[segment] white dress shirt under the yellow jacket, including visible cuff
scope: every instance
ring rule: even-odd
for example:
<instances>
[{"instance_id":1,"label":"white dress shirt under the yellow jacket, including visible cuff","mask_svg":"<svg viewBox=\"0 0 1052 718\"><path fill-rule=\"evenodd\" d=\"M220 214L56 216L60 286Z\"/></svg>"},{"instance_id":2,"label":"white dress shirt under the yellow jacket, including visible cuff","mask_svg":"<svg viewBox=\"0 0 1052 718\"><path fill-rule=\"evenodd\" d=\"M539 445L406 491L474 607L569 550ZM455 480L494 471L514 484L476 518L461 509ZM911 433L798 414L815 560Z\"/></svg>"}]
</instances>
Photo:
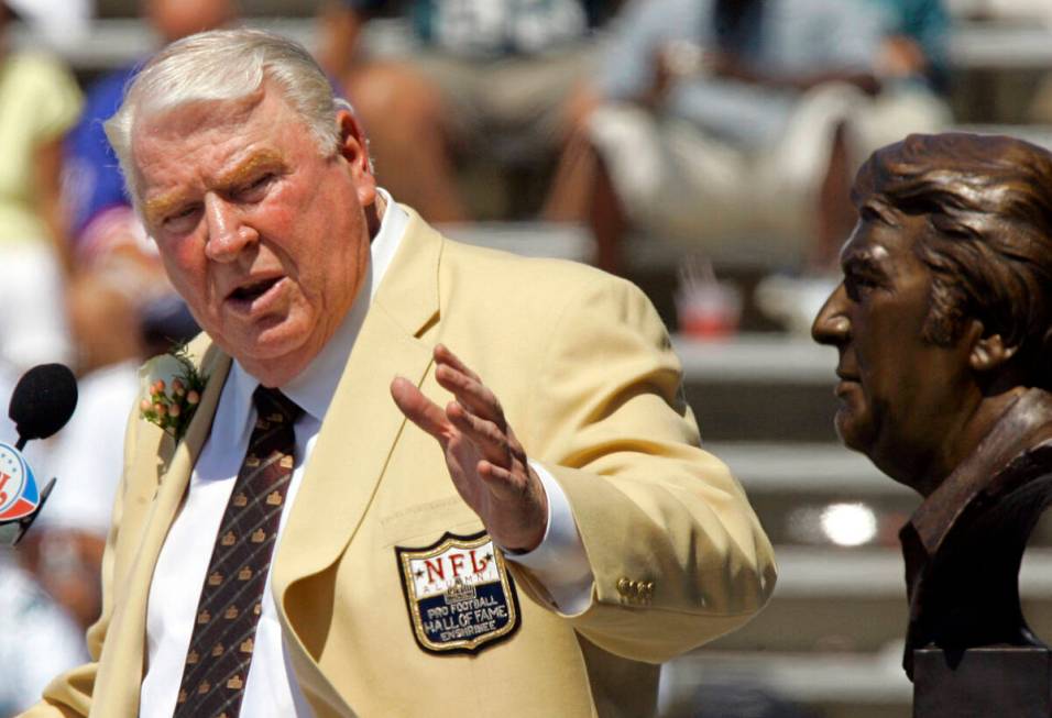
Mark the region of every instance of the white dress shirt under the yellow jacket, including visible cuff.
<instances>
[{"instance_id":1,"label":"white dress shirt under the yellow jacket, including visible cuff","mask_svg":"<svg viewBox=\"0 0 1052 718\"><path fill-rule=\"evenodd\" d=\"M383 189L387 210L371 244L371 264L362 290L332 339L307 368L281 387L304 409L295 424L296 464L288 485L277 541L303 480L321 420L343 373L351 347L408 224L408 214ZM390 380L394 377L385 377ZM377 380L381 380L377 377ZM233 483L255 424L252 393L259 380L233 362L219 397L211 433L190 477L186 500L172 524L154 570L146 611L146 675L140 716L169 718L175 710L186 652L194 630L208 562ZM508 559L528 566L551 593L560 609L579 612L591 596L592 574L580 534L561 487L540 465L532 463L548 494L548 531L528 554ZM275 546L275 552L277 548ZM267 576L266 586L271 579ZM241 715L256 717L311 716L296 682L277 620L271 590L263 595L255 651L245 681Z\"/></svg>"}]
</instances>

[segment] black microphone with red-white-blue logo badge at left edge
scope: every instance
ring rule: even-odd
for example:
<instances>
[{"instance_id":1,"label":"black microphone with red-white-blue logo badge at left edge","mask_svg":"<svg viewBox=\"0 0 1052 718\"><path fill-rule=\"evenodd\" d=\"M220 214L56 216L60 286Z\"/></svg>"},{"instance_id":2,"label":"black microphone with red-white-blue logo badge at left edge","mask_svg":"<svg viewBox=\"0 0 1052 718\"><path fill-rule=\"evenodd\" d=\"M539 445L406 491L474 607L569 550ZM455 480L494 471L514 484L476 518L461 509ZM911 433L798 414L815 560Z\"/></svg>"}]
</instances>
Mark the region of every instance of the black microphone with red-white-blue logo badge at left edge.
<instances>
[{"instance_id":1,"label":"black microphone with red-white-blue logo badge at left edge","mask_svg":"<svg viewBox=\"0 0 1052 718\"><path fill-rule=\"evenodd\" d=\"M77 408L77 379L62 364L34 366L11 394L8 416L15 424L14 446L0 442L0 543L17 544L55 487L52 478L37 490L33 470L22 455L25 443L46 439L66 426Z\"/></svg>"}]
</instances>

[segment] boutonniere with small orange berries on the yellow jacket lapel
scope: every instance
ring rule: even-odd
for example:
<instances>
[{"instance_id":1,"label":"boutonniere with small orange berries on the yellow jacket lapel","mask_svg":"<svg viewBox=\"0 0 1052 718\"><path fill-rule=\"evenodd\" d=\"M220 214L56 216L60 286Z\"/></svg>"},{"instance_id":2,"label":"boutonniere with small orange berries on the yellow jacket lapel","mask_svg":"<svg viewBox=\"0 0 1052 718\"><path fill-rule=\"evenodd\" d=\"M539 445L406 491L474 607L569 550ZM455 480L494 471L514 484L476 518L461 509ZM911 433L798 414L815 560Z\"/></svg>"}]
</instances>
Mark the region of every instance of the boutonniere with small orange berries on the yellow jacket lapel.
<instances>
[{"instance_id":1,"label":"boutonniere with small orange berries on the yellow jacket lapel","mask_svg":"<svg viewBox=\"0 0 1052 718\"><path fill-rule=\"evenodd\" d=\"M194 366L186 344L146 362L139 371L139 380L144 395L139 404L140 416L176 441L182 439L208 380Z\"/></svg>"}]
</instances>

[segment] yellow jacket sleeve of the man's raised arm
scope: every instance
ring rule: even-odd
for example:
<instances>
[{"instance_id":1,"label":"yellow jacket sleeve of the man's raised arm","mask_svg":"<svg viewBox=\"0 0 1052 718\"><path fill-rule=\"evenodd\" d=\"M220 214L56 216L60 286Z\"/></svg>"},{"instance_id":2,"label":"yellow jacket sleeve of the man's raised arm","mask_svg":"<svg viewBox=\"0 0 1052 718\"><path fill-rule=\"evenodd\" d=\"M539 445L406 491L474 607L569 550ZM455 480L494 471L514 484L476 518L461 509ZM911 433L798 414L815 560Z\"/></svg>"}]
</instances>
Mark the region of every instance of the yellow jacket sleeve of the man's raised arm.
<instances>
[{"instance_id":1,"label":"yellow jacket sleeve of the man's raised arm","mask_svg":"<svg viewBox=\"0 0 1052 718\"><path fill-rule=\"evenodd\" d=\"M595 276L548 334L524 445L562 486L594 578L567 620L606 651L661 662L752 618L774 589L774 554L741 485L700 448L649 300Z\"/></svg>"}]
</instances>

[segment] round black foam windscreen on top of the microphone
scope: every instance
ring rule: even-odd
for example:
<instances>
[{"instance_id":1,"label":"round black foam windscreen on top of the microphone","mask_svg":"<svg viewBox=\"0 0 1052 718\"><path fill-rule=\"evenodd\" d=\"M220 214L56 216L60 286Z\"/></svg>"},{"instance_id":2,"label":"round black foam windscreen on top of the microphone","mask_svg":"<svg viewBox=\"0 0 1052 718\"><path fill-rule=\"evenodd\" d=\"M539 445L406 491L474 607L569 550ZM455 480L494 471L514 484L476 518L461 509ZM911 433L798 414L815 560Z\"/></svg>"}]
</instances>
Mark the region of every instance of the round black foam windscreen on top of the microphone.
<instances>
[{"instance_id":1,"label":"round black foam windscreen on top of the microphone","mask_svg":"<svg viewBox=\"0 0 1052 718\"><path fill-rule=\"evenodd\" d=\"M8 416L14 422L19 437L47 439L69 421L77 408L77 378L63 364L41 364L22 375Z\"/></svg>"}]
</instances>

